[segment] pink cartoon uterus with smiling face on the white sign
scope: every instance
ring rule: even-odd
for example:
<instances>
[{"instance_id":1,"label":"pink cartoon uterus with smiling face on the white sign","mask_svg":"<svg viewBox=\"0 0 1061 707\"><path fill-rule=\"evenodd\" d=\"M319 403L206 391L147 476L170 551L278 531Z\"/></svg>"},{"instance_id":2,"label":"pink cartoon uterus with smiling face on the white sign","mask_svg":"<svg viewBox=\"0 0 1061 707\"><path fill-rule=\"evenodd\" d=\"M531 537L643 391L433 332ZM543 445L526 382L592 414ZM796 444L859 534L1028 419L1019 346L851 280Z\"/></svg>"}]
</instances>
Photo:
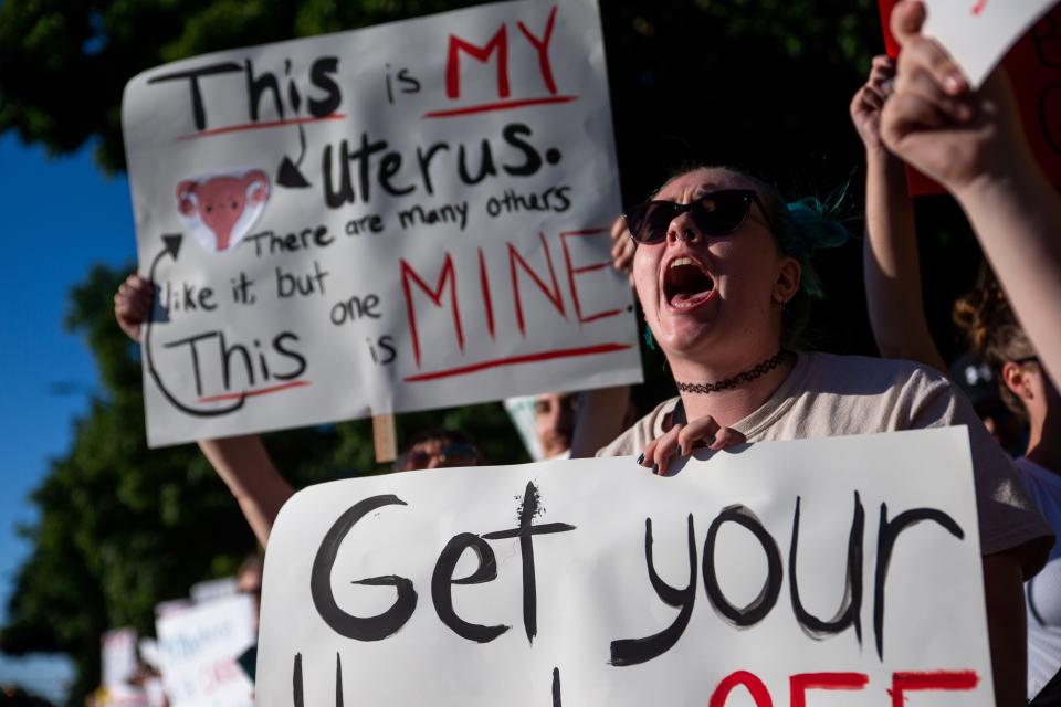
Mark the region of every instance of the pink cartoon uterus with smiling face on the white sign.
<instances>
[{"instance_id":1,"label":"pink cartoon uterus with smiling face on the white sign","mask_svg":"<svg viewBox=\"0 0 1061 707\"><path fill-rule=\"evenodd\" d=\"M177 184L177 210L188 231L210 252L234 247L265 209L269 177L261 169L185 179Z\"/></svg>"}]
</instances>

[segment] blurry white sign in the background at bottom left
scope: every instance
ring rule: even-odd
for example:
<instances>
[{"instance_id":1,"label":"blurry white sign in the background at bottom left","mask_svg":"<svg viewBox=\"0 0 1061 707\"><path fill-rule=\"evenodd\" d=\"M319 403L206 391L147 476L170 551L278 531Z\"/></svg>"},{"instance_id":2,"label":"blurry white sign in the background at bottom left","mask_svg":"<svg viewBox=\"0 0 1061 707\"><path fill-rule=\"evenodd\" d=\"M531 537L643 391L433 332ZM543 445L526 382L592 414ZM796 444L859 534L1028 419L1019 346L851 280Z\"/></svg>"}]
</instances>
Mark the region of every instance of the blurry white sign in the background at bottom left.
<instances>
[{"instance_id":1,"label":"blurry white sign in the background at bottom left","mask_svg":"<svg viewBox=\"0 0 1061 707\"><path fill-rule=\"evenodd\" d=\"M156 620L171 707L245 707L253 685L237 658L254 645L254 600L237 594Z\"/></svg>"}]
</instances>

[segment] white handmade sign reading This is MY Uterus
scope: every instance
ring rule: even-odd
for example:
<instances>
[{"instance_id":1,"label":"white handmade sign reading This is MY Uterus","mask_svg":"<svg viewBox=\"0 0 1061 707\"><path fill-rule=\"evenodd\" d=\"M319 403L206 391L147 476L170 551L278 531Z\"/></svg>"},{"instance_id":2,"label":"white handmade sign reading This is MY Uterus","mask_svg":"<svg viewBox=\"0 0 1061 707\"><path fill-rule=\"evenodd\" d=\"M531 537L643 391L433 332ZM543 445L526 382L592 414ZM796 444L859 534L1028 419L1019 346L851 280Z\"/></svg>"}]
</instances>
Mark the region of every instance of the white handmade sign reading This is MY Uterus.
<instances>
[{"instance_id":1,"label":"white handmade sign reading This is MY Uterus","mask_svg":"<svg viewBox=\"0 0 1061 707\"><path fill-rule=\"evenodd\" d=\"M593 0L168 64L123 123L151 445L641 380Z\"/></svg>"}]
</instances>

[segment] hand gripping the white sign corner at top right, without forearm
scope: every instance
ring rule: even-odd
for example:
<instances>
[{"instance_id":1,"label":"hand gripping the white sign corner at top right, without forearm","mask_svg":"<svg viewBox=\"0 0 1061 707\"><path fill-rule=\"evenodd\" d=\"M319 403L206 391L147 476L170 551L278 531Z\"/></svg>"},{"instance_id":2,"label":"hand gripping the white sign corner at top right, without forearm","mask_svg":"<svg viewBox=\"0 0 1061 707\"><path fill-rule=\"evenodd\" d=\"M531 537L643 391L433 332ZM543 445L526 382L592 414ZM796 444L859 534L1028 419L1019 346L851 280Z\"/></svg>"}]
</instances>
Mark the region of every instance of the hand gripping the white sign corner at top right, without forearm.
<instances>
[{"instance_id":1,"label":"hand gripping the white sign corner at top right, without forearm","mask_svg":"<svg viewBox=\"0 0 1061 707\"><path fill-rule=\"evenodd\" d=\"M904 0L892 13L903 45L895 93L881 114L887 148L950 192L977 180L1005 180L1030 156L1005 72L997 70L979 92L935 40L921 34L925 8Z\"/></svg>"}]
</instances>

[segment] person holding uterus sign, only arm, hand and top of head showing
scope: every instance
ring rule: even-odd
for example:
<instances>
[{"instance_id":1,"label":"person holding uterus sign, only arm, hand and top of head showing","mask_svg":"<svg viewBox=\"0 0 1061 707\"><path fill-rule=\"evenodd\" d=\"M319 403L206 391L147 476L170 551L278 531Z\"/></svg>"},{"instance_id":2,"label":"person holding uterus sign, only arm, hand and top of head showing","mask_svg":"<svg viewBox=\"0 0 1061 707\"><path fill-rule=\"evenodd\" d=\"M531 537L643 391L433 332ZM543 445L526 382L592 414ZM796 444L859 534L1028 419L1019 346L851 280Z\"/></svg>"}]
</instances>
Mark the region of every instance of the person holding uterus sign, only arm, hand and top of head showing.
<instances>
[{"instance_id":1,"label":"person holding uterus sign, only arm, hand and top of head showing","mask_svg":"<svg viewBox=\"0 0 1061 707\"><path fill-rule=\"evenodd\" d=\"M129 275L114 296L118 326L136 341L139 341L140 326L150 316L154 297L154 286L136 274ZM454 445L460 445L460 453ZM273 465L261 437L252 434L200 440L199 449L235 497L254 537L264 548L281 507L295 490ZM466 436L444 430L416 436L399 458L398 471L482 463L482 455Z\"/></svg>"}]
</instances>

